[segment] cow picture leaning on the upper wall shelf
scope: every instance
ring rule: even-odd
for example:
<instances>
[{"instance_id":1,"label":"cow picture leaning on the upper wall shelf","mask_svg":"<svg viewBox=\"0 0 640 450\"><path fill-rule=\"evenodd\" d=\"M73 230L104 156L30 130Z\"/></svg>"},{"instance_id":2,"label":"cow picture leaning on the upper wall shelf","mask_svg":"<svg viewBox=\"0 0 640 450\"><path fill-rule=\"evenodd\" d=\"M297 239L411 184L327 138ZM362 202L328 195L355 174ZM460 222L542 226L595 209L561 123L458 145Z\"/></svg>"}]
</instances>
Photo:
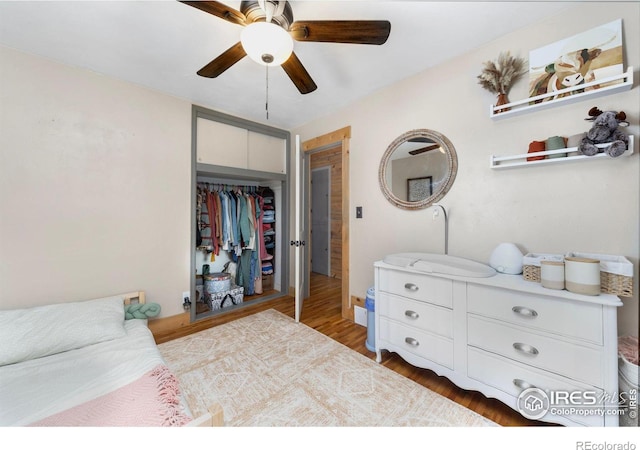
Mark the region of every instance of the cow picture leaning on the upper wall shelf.
<instances>
[{"instance_id":1,"label":"cow picture leaning on the upper wall shelf","mask_svg":"<svg viewBox=\"0 0 640 450\"><path fill-rule=\"evenodd\" d=\"M618 19L529 52L529 97L587 85L532 102L540 103L599 89L613 82L598 80L622 73L622 19Z\"/></svg>"}]
</instances>

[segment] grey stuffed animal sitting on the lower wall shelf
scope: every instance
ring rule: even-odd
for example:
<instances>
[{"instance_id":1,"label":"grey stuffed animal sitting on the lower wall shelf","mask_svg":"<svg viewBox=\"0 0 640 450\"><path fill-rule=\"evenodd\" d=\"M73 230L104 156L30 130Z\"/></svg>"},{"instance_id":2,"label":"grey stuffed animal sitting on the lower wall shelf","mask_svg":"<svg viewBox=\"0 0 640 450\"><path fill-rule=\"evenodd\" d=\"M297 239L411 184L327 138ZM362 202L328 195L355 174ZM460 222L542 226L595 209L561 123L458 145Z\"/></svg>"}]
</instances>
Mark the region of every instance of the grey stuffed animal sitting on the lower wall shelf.
<instances>
[{"instance_id":1,"label":"grey stuffed animal sitting on the lower wall shelf","mask_svg":"<svg viewBox=\"0 0 640 450\"><path fill-rule=\"evenodd\" d=\"M627 150L629 137L623 133L618 127L626 127L629 125L625 119L627 115L624 111L605 111L602 112L595 106L589 110L589 118L593 125L587 132L580 145L578 151L583 155L593 156L600 151L604 151L612 158L622 155ZM609 144L600 149L596 144Z\"/></svg>"}]
</instances>

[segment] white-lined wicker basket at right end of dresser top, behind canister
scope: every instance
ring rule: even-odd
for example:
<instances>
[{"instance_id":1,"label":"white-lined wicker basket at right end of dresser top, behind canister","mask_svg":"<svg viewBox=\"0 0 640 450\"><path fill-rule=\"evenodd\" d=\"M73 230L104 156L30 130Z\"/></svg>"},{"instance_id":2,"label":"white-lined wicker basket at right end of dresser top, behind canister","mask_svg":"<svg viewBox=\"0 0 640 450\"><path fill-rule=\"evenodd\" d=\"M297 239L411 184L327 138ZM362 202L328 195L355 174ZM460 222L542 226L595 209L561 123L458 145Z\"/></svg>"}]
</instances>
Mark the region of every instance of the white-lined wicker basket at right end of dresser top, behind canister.
<instances>
[{"instance_id":1,"label":"white-lined wicker basket at right end of dresser top, behind canister","mask_svg":"<svg viewBox=\"0 0 640 450\"><path fill-rule=\"evenodd\" d=\"M633 264L624 256L579 252L571 252L566 256L600 261L601 292L622 297L633 295Z\"/></svg>"}]
</instances>

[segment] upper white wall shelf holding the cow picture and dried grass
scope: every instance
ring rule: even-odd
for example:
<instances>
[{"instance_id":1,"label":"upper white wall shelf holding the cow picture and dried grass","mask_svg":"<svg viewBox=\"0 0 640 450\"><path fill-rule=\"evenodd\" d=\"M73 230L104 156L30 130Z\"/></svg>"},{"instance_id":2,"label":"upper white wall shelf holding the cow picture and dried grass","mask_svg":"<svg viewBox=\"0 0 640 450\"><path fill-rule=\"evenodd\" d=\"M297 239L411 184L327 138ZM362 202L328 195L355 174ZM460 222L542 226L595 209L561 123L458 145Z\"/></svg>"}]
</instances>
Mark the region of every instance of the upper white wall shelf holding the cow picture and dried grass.
<instances>
[{"instance_id":1,"label":"upper white wall shelf holding the cow picture and dried grass","mask_svg":"<svg viewBox=\"0 0 640 450\"><path fill-rule=\"evenodd\" d=\"M571 95L568 95L567 97L556 98L546 102L542 101L540 103L530 104L533 101L544 100L544 99L556 97L562 94L570 94L572 92L580 91L591 86L596 86L599 84L605 84L605 83L616 82L616 81L620 81L620 83L616 83L610 86L605 86L599 89L594 89L592 91L571 94ZM571 103L585 100L586 98L598 98L604 95L616 94L618 92L627 91L632 87L633 87L633 67L628 67L627 71L620 75L603 78L597 81L581 84L578 86L573 86L566 89L561 89L555 92L548 92L546 94L536 95L535 97L525 98L523 100L507 103L505 105L500 105L500 106L491 105L489 108L489 116L494 120L506 119L508 117L514 117L514 116L518 116L518 115L533 112L533 111L541 111L543 109L551 108L559 104L568 105ZM510 109L508 111L505 111L506 108L510 108Z\"/></svg>"}]
</instances>

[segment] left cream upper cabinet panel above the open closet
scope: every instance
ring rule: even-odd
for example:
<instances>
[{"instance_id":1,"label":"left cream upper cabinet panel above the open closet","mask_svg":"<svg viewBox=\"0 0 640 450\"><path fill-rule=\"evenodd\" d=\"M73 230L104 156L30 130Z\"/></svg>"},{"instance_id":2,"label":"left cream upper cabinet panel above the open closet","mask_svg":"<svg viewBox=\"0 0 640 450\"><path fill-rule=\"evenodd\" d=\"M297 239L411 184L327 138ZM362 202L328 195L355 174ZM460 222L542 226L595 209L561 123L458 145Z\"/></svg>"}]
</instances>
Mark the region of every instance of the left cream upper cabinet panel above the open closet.
<instances>
[{"instance_id":1,"label":"left cream upper cabinet panel above the open closet","mask_svg":"<svg viewBox=\"0 0 640 450\"><path fill-rule=\"evenodd\" d=\"M199 163L247 169L247 133L214 120L198 119L196 155Z\"/></svg>"}]
</instances>

